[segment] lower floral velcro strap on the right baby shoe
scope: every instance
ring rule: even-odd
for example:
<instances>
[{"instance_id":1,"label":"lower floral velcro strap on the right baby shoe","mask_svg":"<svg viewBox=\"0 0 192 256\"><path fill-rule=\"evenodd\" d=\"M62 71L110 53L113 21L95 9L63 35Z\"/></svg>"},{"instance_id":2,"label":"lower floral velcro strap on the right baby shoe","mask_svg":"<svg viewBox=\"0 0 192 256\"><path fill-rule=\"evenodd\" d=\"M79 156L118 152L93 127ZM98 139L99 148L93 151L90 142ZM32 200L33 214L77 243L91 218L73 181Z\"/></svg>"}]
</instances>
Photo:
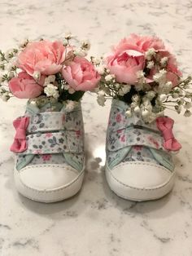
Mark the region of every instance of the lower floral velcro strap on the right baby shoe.
<instances>
[{"instance_id":1,"label":"lower floral velcro strap on the right baby shoe","mask_svg":"<svg viewBox=\"0 0 192 256\"><path fill-rule=\"evenodd\" d=\"M155 130L146 130L129 126L121 130L111 130L107 135L108 150L116 151L134 145L163 149L164 139Z\"/></svg>"}]
</instances>

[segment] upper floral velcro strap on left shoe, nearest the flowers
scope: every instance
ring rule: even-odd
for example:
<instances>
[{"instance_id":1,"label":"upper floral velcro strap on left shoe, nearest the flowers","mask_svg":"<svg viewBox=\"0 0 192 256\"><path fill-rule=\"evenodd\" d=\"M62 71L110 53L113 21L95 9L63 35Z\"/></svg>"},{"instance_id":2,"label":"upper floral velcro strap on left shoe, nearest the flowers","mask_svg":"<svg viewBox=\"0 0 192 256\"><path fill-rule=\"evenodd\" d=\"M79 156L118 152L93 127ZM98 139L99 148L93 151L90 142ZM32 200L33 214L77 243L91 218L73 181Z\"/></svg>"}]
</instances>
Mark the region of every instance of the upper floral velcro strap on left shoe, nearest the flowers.
<instances>
[{"instance_id":1,"label":"upper floral velcro strap on left shoe, nearest the flowers","mask_svg":"<svg viewBox=\"0 0 192 256\"><path fill-rule=\"evenodd\" d=\"M54 130L82 130L81 112L46 112L30 117L28 134Z\"/></svg>"}]
</instances>

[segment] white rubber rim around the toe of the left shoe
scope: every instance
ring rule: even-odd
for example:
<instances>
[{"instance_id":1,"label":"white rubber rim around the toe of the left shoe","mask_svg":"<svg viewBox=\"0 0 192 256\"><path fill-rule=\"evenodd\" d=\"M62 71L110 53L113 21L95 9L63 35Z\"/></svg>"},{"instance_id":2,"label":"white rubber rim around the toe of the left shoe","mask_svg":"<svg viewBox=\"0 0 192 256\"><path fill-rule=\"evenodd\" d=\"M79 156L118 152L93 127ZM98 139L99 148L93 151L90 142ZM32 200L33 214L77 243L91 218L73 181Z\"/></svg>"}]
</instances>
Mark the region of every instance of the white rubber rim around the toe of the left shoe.
<instances>
[{"instance_id":1,"label":"white rubber rim around the toe of the left shoe","mask_svg":"<svg viewBox=\"0 0 192 256\"><path fill-rule=\"evenodd\" d=\"M15 187L21 195L31 199L33 201L39 201L43 203L53 203L57 201L63 201L72 196L75 196L77 192L81 190L85 175L85 169L81 170L81 173L73 179L72 182L64 184L59 188L48 189L48 190L37 190L34 188L29 188L20 179L20 174L18 170L14 170Z\"/></svg>"}]
</instances>

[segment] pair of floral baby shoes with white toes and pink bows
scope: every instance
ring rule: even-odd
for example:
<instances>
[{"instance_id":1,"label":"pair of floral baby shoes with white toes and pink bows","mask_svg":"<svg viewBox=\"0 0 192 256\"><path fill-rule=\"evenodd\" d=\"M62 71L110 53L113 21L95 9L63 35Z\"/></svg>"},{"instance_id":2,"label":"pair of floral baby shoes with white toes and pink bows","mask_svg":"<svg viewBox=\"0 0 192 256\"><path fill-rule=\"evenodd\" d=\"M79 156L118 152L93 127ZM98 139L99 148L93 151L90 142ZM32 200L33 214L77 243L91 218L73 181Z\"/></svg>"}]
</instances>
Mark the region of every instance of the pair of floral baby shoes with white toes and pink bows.
<instances>
[{"instance_id":1,"label":"pair of floral baby shoes with white toes and pink bows","mask_svg":"<svg viewBox=\"0 0 192 256\"><path fill-rule=\"evenodd\" d=\"M24 117L13 123L15 186L20 194L34 201L62 201L81 189L85 174L81 102L72 109L66 106L37 106L28 101ZM170 154L177 143L172 135L173 121L159 117L146 124L137 115L128 117L128 107L117 99L111 104L106 140L107 183L125 199L154 200L170 192L175 179ZM164 148L165 143L169 150Z\"/></svg>"}]
</instances>

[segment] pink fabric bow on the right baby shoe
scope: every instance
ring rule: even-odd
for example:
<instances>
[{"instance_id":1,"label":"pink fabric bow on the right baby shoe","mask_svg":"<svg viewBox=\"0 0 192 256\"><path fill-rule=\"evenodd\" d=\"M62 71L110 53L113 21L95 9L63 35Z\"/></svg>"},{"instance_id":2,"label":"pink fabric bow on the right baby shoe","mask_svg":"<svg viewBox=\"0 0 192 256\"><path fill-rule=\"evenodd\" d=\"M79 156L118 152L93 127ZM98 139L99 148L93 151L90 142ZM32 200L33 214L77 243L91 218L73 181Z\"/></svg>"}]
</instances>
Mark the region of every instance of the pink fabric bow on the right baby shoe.
<instances>
[{"instance_id":1,"label":"pink fabric bow on the right baby shoe","mask_svg":"<svg viewBox=\"0 0 192 256\"><path fill-rule=\"evenodd\" d=\"M178 151L181 149L181 144L178 143L172 133L174 121L170 117L158 117L156 119L157 128L163 133L164 136L164 148L171 151Z\"/></svg>"}]
</instances>

